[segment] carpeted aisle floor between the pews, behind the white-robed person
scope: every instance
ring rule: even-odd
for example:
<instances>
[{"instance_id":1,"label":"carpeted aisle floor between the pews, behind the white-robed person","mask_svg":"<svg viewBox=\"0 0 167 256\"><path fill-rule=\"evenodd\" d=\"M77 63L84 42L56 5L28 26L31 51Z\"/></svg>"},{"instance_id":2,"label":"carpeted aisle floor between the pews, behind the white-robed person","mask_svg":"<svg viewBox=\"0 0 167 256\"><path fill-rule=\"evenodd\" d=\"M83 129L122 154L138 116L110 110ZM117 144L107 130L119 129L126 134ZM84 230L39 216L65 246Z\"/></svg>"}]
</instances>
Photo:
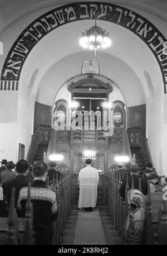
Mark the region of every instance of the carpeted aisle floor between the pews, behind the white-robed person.
<instances>
[{"instance_id":1,"label":"carpeted aisle floor between the pews, behind the white-robed person","mask_svg":"<svg viewBox=\"0 0 167 256\"><path fill-rule=\"evenodd\" d=\"M106 207L97 207L92 212L72 210L67 221L61 245L119 245Z\"/></svg>"}]
</instances>

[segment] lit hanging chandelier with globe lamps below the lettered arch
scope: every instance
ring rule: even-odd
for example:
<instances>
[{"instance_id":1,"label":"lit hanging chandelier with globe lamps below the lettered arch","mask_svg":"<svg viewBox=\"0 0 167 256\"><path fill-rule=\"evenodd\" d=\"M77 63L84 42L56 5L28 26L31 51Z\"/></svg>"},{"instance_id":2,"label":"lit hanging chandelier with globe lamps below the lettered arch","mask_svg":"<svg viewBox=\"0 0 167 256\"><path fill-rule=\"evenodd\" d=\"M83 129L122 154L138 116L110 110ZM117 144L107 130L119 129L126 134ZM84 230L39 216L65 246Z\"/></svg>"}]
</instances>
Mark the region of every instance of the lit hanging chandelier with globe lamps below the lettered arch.
<instances>
[{"instance_id":1,"label":"lit hanging chandelier with globe lamps below the lettered arch","mask_svg":"<svg viewBox=\"0 0 167 256\"><path fill-rule=\"evenodd\" d=\"M96 59L96 50L99 48L106 49L110 47L111 40L109 39L109 32L102 30L101 27L96 25L95 17L95 26L91 27L89 30L82 32L82 37L80 38L80 46L84 49L89 48L94 50Z\"/></svg>"}]
</instances>

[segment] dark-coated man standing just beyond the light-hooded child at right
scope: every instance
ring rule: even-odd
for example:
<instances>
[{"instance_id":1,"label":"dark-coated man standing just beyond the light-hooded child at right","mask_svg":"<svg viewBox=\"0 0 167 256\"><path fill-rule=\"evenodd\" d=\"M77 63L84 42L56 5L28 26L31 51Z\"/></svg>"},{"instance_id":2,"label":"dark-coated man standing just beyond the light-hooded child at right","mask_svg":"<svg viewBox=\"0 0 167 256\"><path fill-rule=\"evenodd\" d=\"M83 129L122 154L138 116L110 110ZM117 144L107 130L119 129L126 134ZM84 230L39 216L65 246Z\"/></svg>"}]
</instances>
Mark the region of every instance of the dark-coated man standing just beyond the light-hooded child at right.
<instances>
[{"instance_id":1,"label":"dark-coated man standing just beyond the light-hooded child at right","mask_svg":"<svg viewBox=\"0 0 167 256\"><path fill-rule=\"evenodd\" d=\"M129 189L131 189L131 181L132 177L134 177L134 188L139 189L139 167L137 164L131 164L130 165L130 176L128 177L128 182L129 182ZM125 201L125 187L126 187L126 177L123 179L119 193L120 196L123 198ZM143 195L148 195L148 181L145 178L141 178L141 192Z\"/></svg>"}]
</instances>

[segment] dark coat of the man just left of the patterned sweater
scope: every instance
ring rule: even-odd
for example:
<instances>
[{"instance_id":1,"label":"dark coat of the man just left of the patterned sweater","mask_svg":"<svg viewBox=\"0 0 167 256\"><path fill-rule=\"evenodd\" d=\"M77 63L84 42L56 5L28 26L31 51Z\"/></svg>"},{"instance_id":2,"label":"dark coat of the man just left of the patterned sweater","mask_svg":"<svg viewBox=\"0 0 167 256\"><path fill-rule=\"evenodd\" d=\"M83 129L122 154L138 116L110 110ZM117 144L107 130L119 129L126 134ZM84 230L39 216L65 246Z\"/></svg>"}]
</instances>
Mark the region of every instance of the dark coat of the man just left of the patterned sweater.
<instances>
[{"instance_id":1,"label":"dark coat of the man just left of the patterned sweater","mask_svg":"<svg viewBox=\"0 0 167 256\"><path fill-rule=\"evenodd\" d=\"M3 183L3 193L7 197L8 206L10 205L11 201L11 192L12 188L15 188L15 207L17 206L17 200L19 196L19 191L22 187L27 187L28 182L30 182L30 179L27 179L26 176L23 174L17 175L14 179L11 179L8 182Z\"/></svg>"}]
</instances>

